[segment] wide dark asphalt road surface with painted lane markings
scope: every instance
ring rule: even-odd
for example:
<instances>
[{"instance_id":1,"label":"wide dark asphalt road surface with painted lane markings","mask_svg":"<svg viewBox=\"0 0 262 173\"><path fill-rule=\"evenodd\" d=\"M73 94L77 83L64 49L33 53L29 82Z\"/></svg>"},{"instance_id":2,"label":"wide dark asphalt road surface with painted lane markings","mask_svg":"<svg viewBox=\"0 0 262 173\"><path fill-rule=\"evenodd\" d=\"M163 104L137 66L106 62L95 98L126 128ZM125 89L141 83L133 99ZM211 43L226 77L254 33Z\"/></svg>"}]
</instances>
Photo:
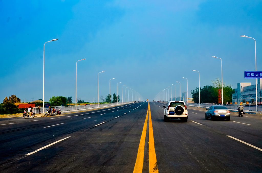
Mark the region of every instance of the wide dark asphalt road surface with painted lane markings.
<instances>
[{"instance_id":1,"label":"wide dark asphalt road surface with painted lane markings","mask_svg":"<svg viewBox=\"0 0 262 173\"><path fill-rule=\"evenodd\" d=\"M164 122L163 105L0 119L0 172L262 172L262 116Z\"/></svg>"}]
</instances>

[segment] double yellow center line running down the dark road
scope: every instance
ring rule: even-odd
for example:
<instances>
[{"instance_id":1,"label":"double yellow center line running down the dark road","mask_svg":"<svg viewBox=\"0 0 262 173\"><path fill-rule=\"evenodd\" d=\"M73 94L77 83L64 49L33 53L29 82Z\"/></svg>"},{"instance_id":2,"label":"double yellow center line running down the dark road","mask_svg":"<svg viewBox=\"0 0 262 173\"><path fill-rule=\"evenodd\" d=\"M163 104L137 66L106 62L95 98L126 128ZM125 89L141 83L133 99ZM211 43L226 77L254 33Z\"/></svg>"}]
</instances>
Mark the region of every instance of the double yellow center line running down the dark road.
<instances>
[{"instance_id":1,"label":"double yellow center line running down the dark road","mask_svg":"<svg viewBox=\"0 0 262 173\"><path fill-rule=\"evenodd\" d=\"M135 168L133 173L141 173L143 170L143 163L144 163L144 151L145 151L145 140L146 140L146 127L148 122L149 116L149 142L148 142L148 155L149 155L149 172L158 172L157 168L157 161L156 161L156 152L155 152L155 143L154 143L154 135L153 135L153 126L152 126L152 119L151 119L151 111L150 105L148 102L148 111L146 113L146 119L138 147L137 153L137 160L135 162Z\"/></svg>"}]
</instances>

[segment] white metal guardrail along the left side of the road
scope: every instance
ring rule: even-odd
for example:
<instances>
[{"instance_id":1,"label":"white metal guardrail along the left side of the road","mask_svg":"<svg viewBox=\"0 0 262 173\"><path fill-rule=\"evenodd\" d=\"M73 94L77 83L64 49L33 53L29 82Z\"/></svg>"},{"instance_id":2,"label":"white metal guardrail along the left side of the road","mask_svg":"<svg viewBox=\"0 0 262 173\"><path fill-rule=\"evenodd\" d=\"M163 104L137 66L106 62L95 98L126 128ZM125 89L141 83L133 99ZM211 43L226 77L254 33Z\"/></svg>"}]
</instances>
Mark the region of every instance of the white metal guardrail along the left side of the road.
<instances>
[{"instance_id":1,"label":"white metal guardrail along the left side of the road","mask_svg":"<svg viewBox=\"0 0 262 173\"><path fill-rule=\"evenodd\" d=\"M61 109L62 112L64 111L75 111L75 110L81 110L81 109L89 109L89 108L100 108L100 107L107 107L107 106L115 106L115 105L122 105L122 104L126 104L126 103L133 103L133 101L131 102L118 102L118 103L99 103L98 104L90 104L90 105L70 105L70 106L53 106L51 108L55 108L56 110ZM43 107L40 107L41 113L45 113L47 111L49 107L45 107L44 108L44 112L43 111ZM38 113L38 109L37 107L33 108L35 113Z\"/></svg>"}]
</instances>

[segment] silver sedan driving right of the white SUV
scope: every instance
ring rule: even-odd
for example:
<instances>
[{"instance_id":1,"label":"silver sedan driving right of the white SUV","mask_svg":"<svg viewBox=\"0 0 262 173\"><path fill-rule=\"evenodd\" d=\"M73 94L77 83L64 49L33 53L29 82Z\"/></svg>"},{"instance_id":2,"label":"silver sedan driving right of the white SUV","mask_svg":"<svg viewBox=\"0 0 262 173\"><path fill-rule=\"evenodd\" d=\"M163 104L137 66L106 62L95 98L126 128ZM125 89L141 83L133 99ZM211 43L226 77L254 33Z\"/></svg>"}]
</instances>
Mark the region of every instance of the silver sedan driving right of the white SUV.
<instances>
[{"instance_id":1,"label":"silver sedan driving right of the white SUV","mask_svg":"<svg viewBox=\"0 0 262 173\"><path fill-rule=\"evenodd\" d=\"M206 109L206 115L205 118L210 120L215 119L226 119L227 121L230 120L230 110L227 109L226 106L210 106L208 109Z\"/></svg>"}]
</instances>

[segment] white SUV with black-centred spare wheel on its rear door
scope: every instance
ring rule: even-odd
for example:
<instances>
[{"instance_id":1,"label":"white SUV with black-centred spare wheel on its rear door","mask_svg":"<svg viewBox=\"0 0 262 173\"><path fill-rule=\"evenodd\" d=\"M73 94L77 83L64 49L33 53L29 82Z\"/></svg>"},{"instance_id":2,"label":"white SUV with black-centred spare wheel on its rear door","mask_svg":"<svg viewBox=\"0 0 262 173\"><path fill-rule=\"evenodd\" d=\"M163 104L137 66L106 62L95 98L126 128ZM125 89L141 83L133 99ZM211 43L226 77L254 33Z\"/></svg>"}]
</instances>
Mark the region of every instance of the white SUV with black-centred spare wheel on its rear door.
<instances>
[{"instance_id":1,"label":"white SUV with black-centred spare wheel on its rear door","mask_svg":"<svg viewBox=\"0 0 262 173\"><path fill-rule=\"evenodd\" d=\"M184 101L168 101L166 106L163 106L164 109L164 121L169 120L170 118L178 119L181 121L187 122L187 106L185 106Z\"/></svg>"}]
</instances>

